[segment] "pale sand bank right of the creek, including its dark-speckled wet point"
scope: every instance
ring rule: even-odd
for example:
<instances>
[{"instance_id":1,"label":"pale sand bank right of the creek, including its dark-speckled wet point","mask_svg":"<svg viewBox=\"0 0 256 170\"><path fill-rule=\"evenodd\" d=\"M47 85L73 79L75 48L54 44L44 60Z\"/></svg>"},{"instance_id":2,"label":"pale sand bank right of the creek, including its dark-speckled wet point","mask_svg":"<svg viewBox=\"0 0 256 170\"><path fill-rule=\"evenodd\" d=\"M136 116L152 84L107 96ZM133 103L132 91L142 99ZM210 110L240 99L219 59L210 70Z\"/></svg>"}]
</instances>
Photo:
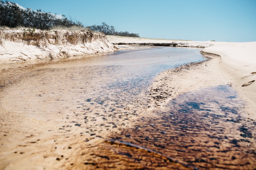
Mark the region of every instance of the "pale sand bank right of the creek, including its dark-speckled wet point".
<instances>
[{"instance_id":1,"label":"pale sand bank right of the creek, including its dark-speckled wet point","mask_svg":"<svg viewBox=\"0 0 256 170\"><path fill-rule=\"evenodd\" d=\"M155 107L163 108L180 94L201 88L230 85L246 101L250 119L256 119L256 42L213 42L214 46L202 49L211 58L190 63L160 73L152 83L155 91ZM160 99L159 99L160 98Z\"/></svg>"}]
</instances>

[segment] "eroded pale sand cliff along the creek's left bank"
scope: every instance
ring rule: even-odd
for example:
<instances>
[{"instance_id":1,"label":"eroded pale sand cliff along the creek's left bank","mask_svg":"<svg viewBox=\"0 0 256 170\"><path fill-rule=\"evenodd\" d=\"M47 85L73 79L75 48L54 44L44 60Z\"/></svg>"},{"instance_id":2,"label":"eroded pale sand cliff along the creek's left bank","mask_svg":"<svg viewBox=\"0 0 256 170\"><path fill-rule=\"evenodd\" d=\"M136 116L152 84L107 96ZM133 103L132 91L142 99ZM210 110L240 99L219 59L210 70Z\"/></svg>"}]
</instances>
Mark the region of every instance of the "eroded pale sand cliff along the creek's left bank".
<instances>
[{"instance_id":1,"label":"eroded pale sand cliff along the creek's left bank","mask_svg":"<svg viewBox=\"0 0 256 170\"><path fill-rule=\"evenodd\" d=\"M104 34L91 31L0 30L0 64L116 50Z\"/></svg>"}]
</instances>

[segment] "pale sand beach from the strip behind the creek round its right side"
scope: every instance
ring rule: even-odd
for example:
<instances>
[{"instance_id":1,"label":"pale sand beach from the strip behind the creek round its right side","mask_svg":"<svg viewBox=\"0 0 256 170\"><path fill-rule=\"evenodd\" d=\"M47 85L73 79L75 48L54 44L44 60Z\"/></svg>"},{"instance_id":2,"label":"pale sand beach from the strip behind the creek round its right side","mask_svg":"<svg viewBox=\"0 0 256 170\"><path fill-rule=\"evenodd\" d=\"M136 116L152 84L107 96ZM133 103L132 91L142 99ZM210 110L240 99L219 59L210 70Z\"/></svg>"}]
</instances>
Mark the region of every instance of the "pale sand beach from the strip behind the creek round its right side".
<instances>
[{"instance_id":1,"label":"pale sand beach from the strip behind the creek round its right side","mask_svg":"<svg viewBox=\"0 0 256 170\"><path fill-rule=\"evenodd\" d=\"M175 75L175 69L162 73L158 79L168 77L164 83L171 83L169 87L179 87L176 92L171 94L175 98L177 95L195 91L196 89L220 84L230 84L248 101L251 107L256 106L256 42L234 43L234 42L215 42L215 41L180 41L163 40L149 38L127 38L118 36L107 36L111 43L176 43L177 47L203 47L202 54L209 56L211 60L185 68L189 71L181 71ZM131 45L116 45L119 49L129 49ZM136 46L131 46L131 49ZM200 69L199 69L200 68ZM179 68L182 70L182 67ZM170 81L170 79L172 81ZM173 82L174 81L174 82ZM172 83L173 82L173 83ZM248 83L249 82L249 83ZM250 84L247 85L246 83ZM158 84L158 83L155 83ZM163 84L163 83L162 83Z\"/></svg>"}]
</instances>

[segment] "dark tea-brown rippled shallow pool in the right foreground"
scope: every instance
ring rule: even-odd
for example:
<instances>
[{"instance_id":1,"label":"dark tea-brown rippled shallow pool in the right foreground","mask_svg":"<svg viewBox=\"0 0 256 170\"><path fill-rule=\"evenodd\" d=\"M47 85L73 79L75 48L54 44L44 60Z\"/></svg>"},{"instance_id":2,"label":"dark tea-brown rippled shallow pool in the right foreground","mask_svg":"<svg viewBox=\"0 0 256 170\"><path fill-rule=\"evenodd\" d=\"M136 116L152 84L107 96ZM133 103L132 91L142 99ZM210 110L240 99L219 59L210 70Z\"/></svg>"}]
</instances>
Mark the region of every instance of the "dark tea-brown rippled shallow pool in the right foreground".
<instances>
[{"instance_id":1,"label":"dark tea-brown rippled shallow pool in the right foreground","mask_svg":"<svg viewBox=\"0 0 256 170\"><path fill-rule=\"evenodd\" d=\"M112 138L199 169L254 169L256 129L253 120L242 116L244 106L230 86L208 87L180 95L164 112L156 111L157 117L142 117L135 128ZM141 154L131 147L120 150Z\"/></svg>"}]
</instances>

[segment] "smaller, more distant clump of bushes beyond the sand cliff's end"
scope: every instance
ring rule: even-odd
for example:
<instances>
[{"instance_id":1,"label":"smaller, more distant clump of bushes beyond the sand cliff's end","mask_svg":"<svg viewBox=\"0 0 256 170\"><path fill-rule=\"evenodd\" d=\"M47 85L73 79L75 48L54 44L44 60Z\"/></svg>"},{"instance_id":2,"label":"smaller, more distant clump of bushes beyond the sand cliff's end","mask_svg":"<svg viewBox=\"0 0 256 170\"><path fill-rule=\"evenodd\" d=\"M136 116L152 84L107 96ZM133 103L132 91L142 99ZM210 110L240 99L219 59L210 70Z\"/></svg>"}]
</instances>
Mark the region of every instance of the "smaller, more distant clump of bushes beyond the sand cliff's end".
<instances>
[{"instance_id":1,"label":"smaller, more distant clump of bushes beyond the sand cliff's end","mask_svg":"<svg viewBox=\"0 0 256 170\"><path fill-rule=\"evenodd\" d=\"M129 33L128 31L120 31L117 32L112 25L107 25L105 22L102 22L102 25L92 25L88 26L87 28L91 29L92 31L99 31L103 32L106 35L119 35L119 36L124 36L124 37L139 37L139 34L135 33Z\"/></svg>"}]
</instances>

